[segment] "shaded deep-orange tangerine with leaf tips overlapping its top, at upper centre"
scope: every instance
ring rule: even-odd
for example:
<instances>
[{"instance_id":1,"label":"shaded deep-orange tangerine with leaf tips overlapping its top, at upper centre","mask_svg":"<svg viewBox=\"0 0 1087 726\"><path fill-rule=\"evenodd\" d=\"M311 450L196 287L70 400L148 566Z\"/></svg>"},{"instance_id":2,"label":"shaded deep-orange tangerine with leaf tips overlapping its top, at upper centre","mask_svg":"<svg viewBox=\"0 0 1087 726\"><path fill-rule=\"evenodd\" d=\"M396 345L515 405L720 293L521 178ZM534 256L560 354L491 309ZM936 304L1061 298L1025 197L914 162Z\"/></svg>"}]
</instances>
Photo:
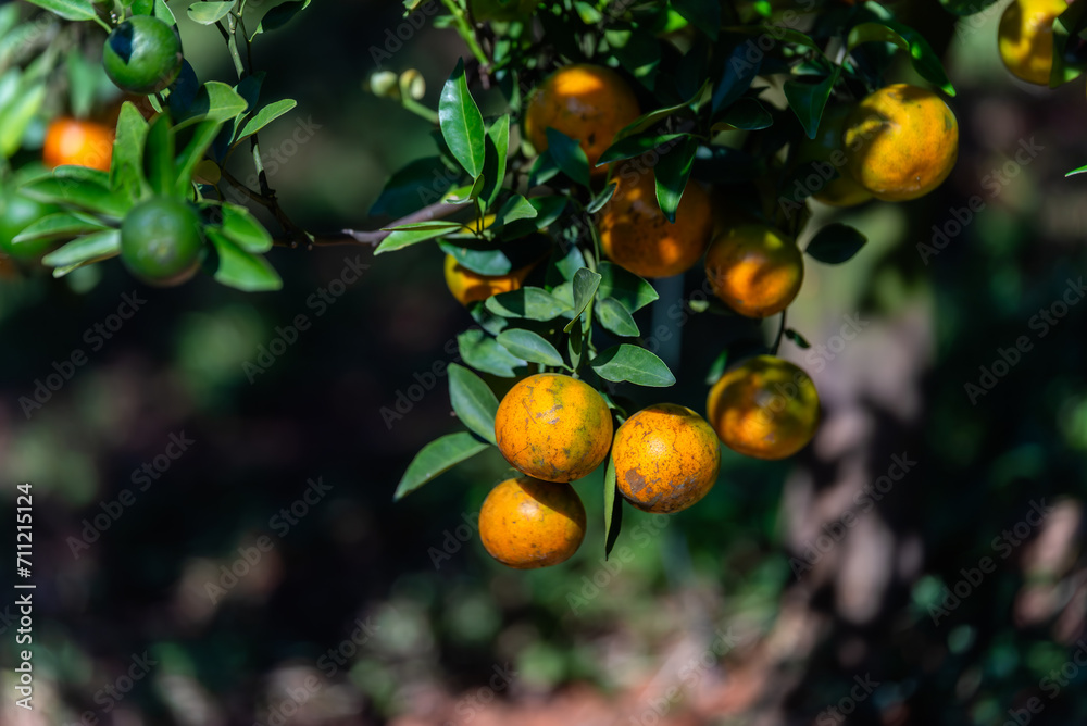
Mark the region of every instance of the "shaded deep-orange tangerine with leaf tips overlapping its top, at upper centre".
<instances>
[{"instance_id":1,"label":"shaded deep-orange tangerine with leaf tips overlapping its top, at upper centre","mask_svg":"<svg viewBox=\"0 0 1087 726\"><path fill-rule=\"evenodd\" d=\"M671 277L694 267L713 234L709 193L689 179L672 223L657 201L652 168L624 164L615 178L615 193L597 215L604 254L641 277Z\"/></svg>"}]
</instances>

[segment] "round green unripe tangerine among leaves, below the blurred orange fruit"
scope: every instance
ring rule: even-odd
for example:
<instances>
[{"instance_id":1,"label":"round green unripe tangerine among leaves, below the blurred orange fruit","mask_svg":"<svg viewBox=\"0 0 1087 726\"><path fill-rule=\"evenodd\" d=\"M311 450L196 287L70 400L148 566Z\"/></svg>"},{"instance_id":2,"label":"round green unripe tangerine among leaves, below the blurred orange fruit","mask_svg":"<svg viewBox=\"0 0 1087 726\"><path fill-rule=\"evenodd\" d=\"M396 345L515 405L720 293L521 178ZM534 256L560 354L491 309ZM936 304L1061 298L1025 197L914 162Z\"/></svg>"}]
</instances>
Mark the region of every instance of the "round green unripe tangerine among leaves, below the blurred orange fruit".
<instances>
[{"instance_id":1,"label":"round green unripe tangerine among leaves, below the blurred orange fruit","mask_svg":"<svg viewBox=\"0 0 1087 726\"><path fill-rule=\"evenodd\" d=\"M200 267L200 217L179 199L150 199L121 223L121 261L146 283L180 285Z\"/></svg>"}]
</instances>

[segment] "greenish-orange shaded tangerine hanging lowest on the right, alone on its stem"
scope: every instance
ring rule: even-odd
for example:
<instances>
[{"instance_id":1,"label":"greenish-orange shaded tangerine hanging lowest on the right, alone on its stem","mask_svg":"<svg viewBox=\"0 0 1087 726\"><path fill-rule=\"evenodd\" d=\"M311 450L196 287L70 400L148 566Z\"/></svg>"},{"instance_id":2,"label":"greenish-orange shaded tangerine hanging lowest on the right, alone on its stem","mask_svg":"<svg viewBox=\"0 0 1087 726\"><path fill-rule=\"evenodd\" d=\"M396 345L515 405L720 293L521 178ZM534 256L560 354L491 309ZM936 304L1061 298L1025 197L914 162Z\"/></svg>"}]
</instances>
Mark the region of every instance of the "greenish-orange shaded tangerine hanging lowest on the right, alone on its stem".
<instances>
[{"instance_id":1,"label":"greenish-orange shaded tangerine hanging lowest on the right, alone on its stem","mask_svg":"<svg viewBox=\"0 0 1087 726\"><path fill-rule=\"evenodd\" d=\"M707 421L729 449L755 459L785 459L808 446L820 422L815 384L773 355L750 358L710 389Z\"/></svg>"}]
</instances>

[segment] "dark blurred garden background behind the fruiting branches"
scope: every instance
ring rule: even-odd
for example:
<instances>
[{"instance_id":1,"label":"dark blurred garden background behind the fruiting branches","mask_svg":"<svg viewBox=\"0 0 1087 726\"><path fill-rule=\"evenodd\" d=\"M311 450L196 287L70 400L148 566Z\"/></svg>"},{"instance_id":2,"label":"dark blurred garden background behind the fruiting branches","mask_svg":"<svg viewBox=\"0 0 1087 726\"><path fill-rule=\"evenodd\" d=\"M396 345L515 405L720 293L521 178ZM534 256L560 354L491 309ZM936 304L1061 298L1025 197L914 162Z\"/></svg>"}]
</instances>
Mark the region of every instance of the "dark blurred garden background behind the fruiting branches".
<instances>
[{"instance_id":1,"label":"dark blurred garden background behind the fruiting branches","mask_svg":"<svg viewBox=\"0 0 1087 726\"><path fill-rule=\"evenodd\" d=\"M790 310L813 348L783 354L821 391L820 434L785 462L725 450L716 487L678 515L627 509L607 564L601 473L576 487L585 544L544 572L502 568L475 536L508 472L497 453L392 503L414 452L457 425L428 372L471 318L433 246L277 249L274 295L207 276L151 289L114 263L0 284L0 515L13 531L14 487L34 484L38 585L28 714L0 567L0 722L1085 723L1087 180L1064 178L1087 163L1084 83L1004 72L1003 1L958 26L911 4L946 49L960 160L923 199L816 209L813 228L869 238L846 265L809 260ZM315 2L255 48L266 98L299 101L263 146L286 153L309 129L271 177L309 229L375 228L389 173L433 153L424 121L364 90L400 11ZM229 79L217 34L182 33L201 79ZM425 28L385 67L420 70L433 105L462 50ZM957 220L938 254L919 248ZM315 303L352 264L368 267ZM88 334L125 295L146 303L109 339ZM247 368L299 314L312 327ZM702 410L721 318L669 324L680 383L621 392ZM20 397L77 349L89 362L28 418ZM401 396L418 400L384 416Z\"/></svg>"}]
</instances>

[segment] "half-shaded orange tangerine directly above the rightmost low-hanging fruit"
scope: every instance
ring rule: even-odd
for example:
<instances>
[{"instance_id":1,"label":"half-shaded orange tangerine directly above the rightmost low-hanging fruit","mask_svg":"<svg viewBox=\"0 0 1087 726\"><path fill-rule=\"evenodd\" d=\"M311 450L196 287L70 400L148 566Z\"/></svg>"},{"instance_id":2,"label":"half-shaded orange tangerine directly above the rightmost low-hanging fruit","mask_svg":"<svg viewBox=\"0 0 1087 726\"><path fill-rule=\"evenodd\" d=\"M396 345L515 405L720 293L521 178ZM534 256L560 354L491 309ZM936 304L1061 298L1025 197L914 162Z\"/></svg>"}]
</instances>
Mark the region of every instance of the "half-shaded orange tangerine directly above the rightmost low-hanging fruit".
<instances>
[{"instance_id":1,"label":"half-shaded orange tangerine directly above the rightmost low-hanging fruit","mask_svg":"<svg viewBox=\"0 0 1087 726\"><path fill-rule=\"evenodd\" d=\"M773 227L748 223L719 235L705 253L713 293L747 317L769 317L796 299L804 280L803 254Z\"/></svg>"}]
</instances>

